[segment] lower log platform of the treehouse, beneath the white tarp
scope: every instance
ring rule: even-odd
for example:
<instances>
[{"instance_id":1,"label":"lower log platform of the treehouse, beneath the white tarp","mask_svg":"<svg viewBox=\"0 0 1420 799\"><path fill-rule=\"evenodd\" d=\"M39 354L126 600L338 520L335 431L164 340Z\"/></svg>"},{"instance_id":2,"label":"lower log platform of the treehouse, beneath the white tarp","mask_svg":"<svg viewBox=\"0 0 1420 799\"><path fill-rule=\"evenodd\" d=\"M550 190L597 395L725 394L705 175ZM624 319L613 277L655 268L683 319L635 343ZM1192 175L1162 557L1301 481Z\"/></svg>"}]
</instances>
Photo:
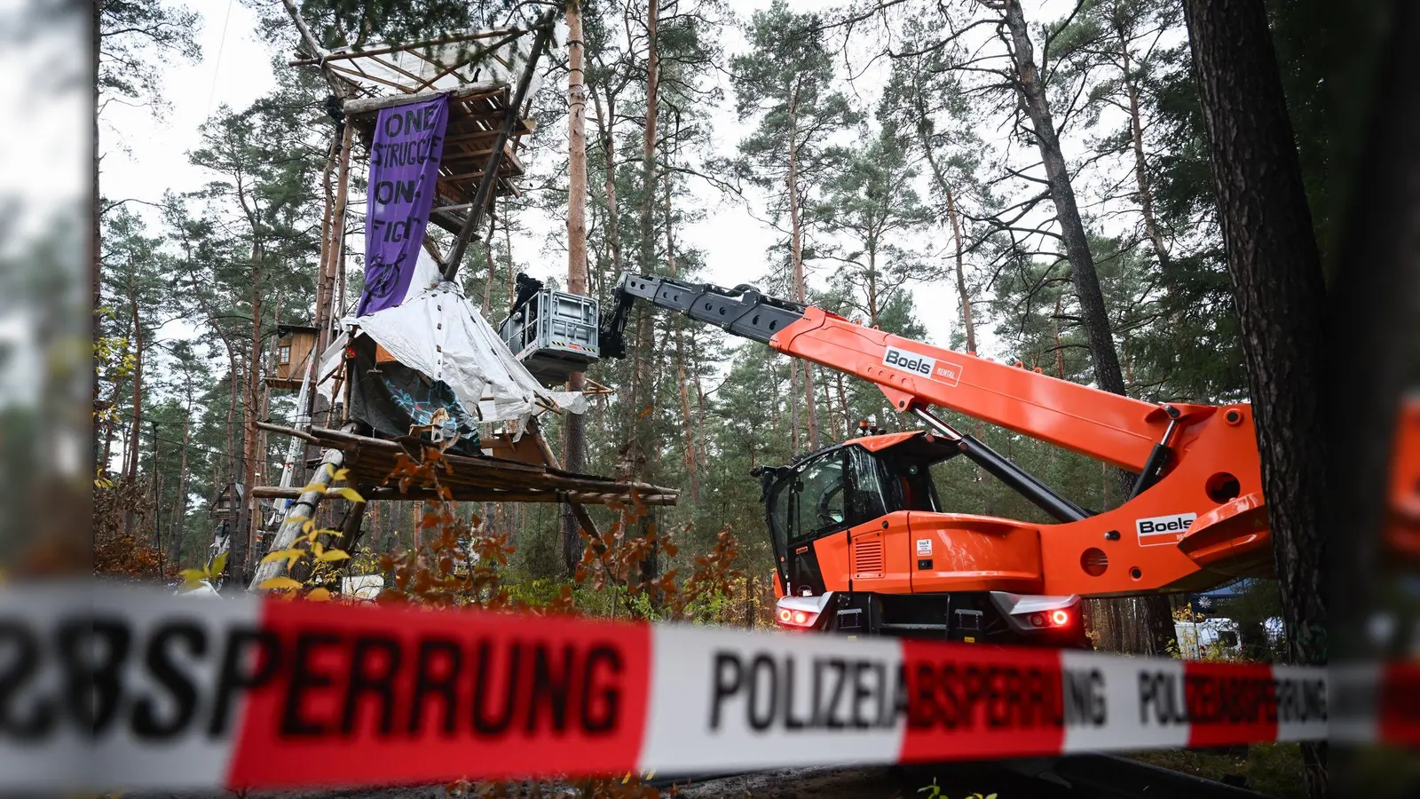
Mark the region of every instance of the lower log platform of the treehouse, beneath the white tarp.
<instances>
[{"instance_id":1,"label":"lower log platform of the treehouse, beneath the white tarp","mask_svg":"<svg viewBox=\"0 0 1420 799\"><path fill-rule=\"evenodd\" d=\"M395 471L400 455L416 461L423 456L427 444L405 436L382 439L356 435L328 428L312 428L310 432L291 428L270 427L273 432L284 432L315 444L322 449L344 452L342 468L349 469L346 483L356 486L365 499L425 500L436 499L433 489L410 486L400 493L398 485L386 485L386 478ZM674 505L679 492L670 488L639 482L625 482L612 478L568 472L547 465L551 452L544 452L545 442L535 432L528 432L518 442L507 436L494 436L493 456L470 458L467 455L444 454L449 471L439 471L440 485L449 486L459 502L568 502L571 505ZM501 456L500 456L501 455ZM300 489L263 486L253 490L254 496L295 499ZM632 496L635 495L635 500Z\"/></svg>"}]
</instances>

